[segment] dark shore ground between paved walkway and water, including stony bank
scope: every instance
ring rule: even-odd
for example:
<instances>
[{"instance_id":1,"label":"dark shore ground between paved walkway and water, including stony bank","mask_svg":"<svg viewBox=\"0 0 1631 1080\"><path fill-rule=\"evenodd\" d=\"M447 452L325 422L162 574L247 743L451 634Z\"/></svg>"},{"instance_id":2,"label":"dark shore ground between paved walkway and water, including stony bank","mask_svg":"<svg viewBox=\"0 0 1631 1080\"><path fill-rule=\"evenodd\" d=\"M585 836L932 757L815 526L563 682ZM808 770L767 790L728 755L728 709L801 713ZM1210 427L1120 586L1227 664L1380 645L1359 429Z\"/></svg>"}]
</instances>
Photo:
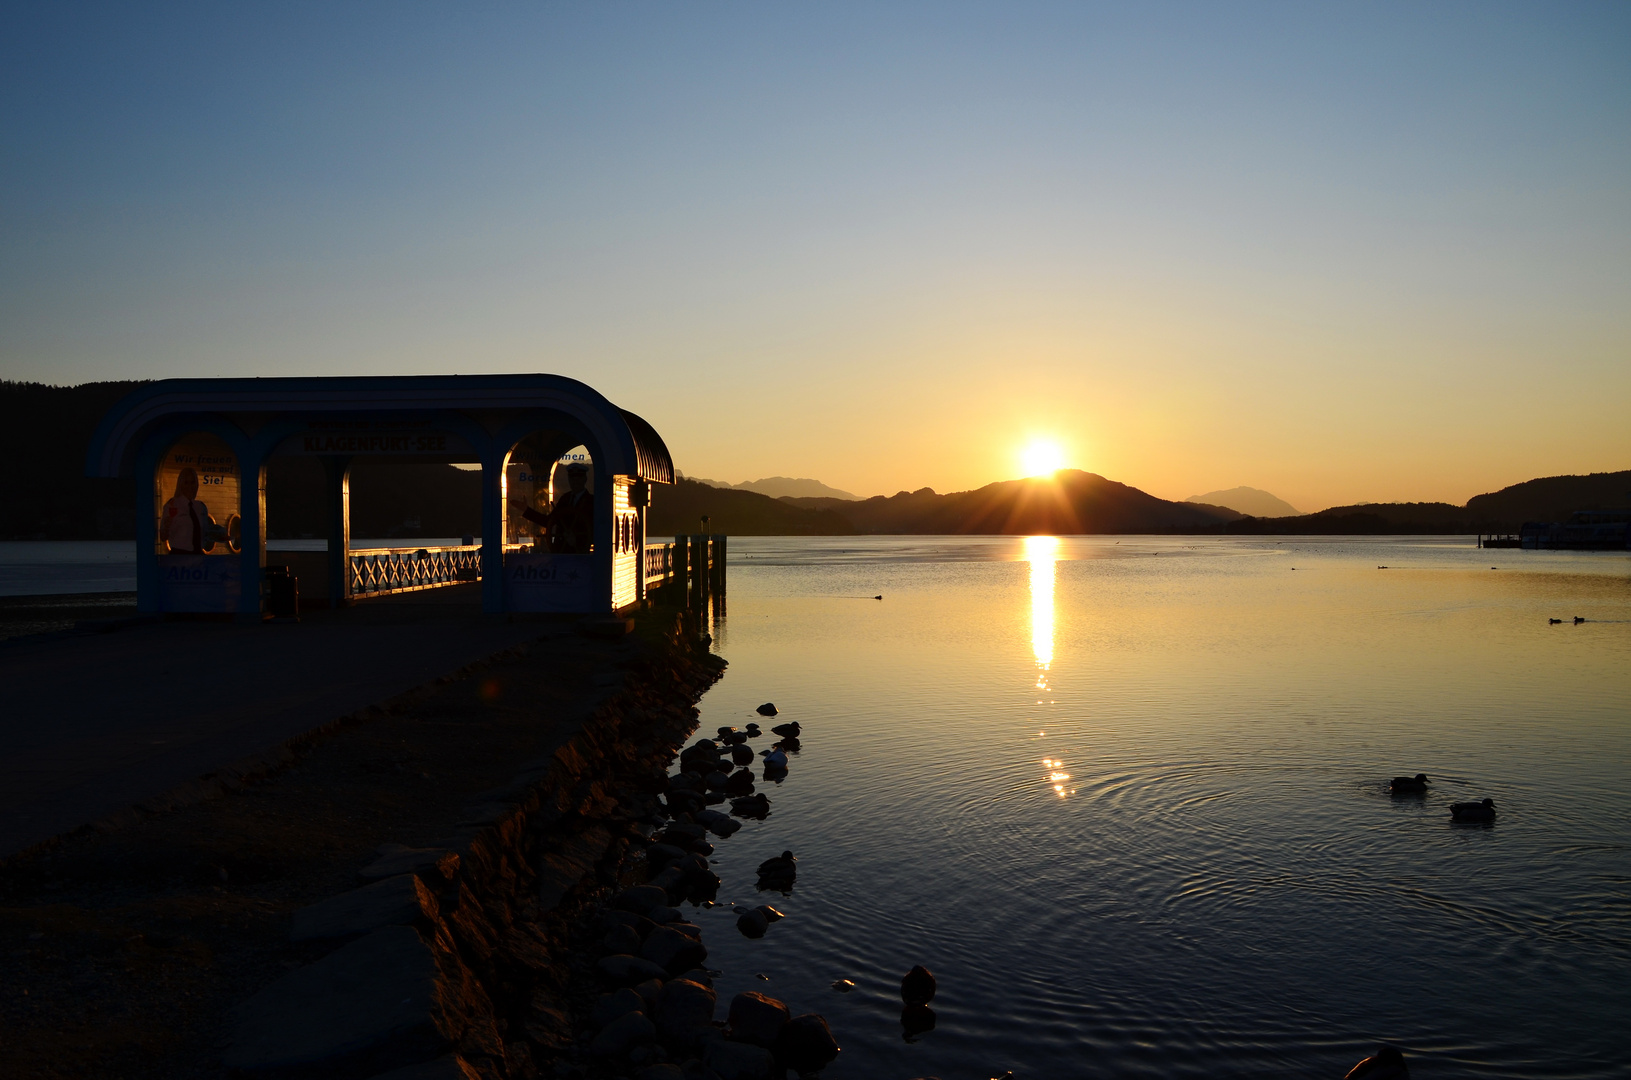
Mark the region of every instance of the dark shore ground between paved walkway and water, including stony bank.
<instances>
[{"instance_id":1,"label":"dark shore ground between paved walkway and water, including stony bank","mask_svg":"<svg viewBox=\"0 0 1631 1080\"><path fill-rule=\"evenodd\" d=\"M687 613L641 613L620 643L551 626L5 860L0 979L18 992L0 1070L206 1077L225 1052L264 1077L435 1059L435 1075L550 1075L581 1011L561 997L572 912L615 883L721 671ZM398 902L367 932L289 940L312 909L383 883L413 883L416 914ZM277 1020L281 982L391 940L435 972L424 1015L373 1036L329 1023L326 1049L313 1023Z\"/></svg>"}]
</instances>

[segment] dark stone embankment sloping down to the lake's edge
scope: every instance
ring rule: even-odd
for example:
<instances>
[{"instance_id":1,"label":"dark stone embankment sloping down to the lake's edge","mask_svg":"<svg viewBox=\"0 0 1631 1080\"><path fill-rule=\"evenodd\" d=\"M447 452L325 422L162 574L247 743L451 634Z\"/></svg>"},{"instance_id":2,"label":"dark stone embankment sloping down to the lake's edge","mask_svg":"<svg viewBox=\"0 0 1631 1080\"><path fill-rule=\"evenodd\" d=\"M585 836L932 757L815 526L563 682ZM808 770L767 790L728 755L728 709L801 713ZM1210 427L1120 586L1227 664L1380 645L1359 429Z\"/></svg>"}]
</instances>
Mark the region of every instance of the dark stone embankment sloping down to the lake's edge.
<instances>
[{"instance_id":1,"label":"dark stone embankment sloping down to the lake's edge","mask_svg":"<svg viewBox=\"0 0 1631 1080\"><path fill-rule=\"evenodd\" d=\"M688 636L677 625L665 669L631 679L548 760L449 822L468 839L387 845L359 871L369 884L297 910L292 938L336 948L233 1010L223 1064L267 1078L577 1073L574 932L631 845L649 842L692 702L723 667L682 649ZM690 958L692 940L665 933L667 963Z\"/></svg>"}]
</instances>

